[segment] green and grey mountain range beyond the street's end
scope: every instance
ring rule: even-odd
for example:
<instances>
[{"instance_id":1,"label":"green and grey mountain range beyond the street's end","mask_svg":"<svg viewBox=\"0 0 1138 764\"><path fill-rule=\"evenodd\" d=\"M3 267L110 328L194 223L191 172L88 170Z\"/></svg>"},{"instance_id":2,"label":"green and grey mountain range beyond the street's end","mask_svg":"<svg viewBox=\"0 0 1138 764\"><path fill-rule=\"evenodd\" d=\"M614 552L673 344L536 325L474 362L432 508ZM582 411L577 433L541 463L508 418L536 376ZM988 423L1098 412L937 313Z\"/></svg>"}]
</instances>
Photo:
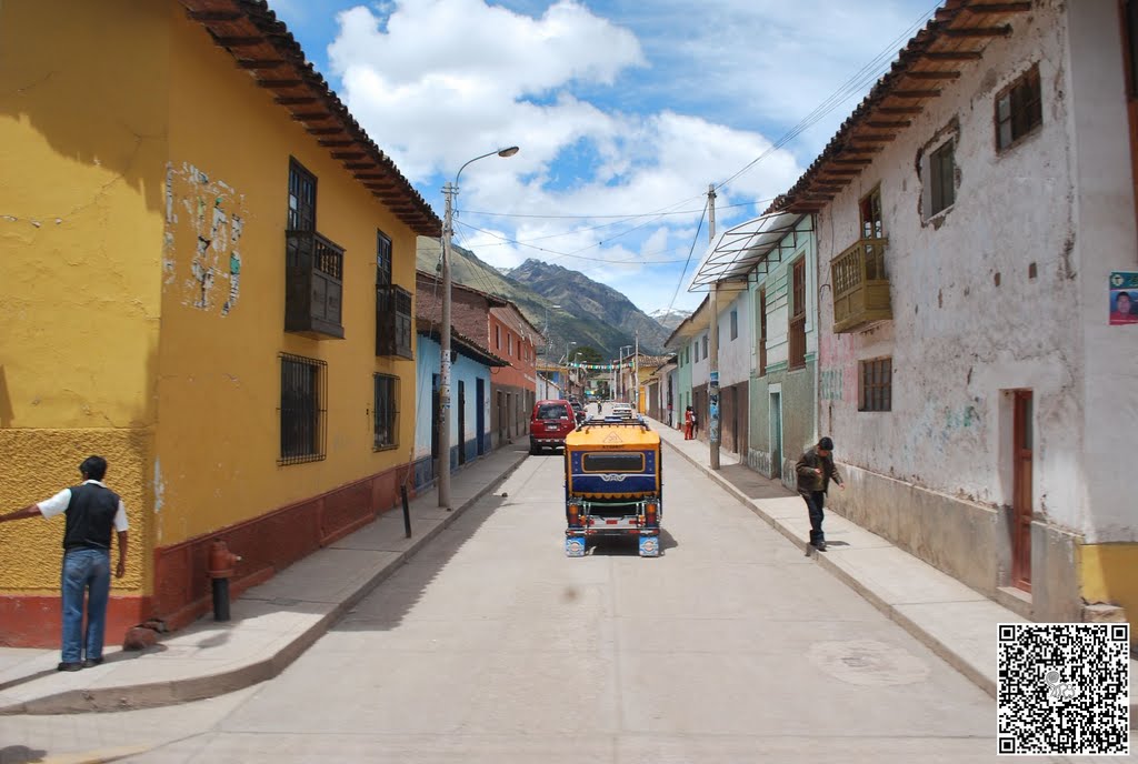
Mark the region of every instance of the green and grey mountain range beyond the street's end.
<instances>
[{"instance_id":1,"label":"green and grey mountain range beyond the street's end","mask_svg":"<svg viewBox=\"0 0 1138 764\"><path fill-rule=\"evenodd\" d=\"M637 332L643 354L665 352L670 329L617 290L583 273L536 259L502 271L469 249L453 247L452 251L451 277L455 283L510 300L550 339L543 360L546 356L550 362L562 358L567 348L571 349L570 343L595 348L605 359L617 358L621 347L636 342ZM420 271L436 273L440 264L438 242L420 238L415 259Z\"/></svg>"}]
</instances>

